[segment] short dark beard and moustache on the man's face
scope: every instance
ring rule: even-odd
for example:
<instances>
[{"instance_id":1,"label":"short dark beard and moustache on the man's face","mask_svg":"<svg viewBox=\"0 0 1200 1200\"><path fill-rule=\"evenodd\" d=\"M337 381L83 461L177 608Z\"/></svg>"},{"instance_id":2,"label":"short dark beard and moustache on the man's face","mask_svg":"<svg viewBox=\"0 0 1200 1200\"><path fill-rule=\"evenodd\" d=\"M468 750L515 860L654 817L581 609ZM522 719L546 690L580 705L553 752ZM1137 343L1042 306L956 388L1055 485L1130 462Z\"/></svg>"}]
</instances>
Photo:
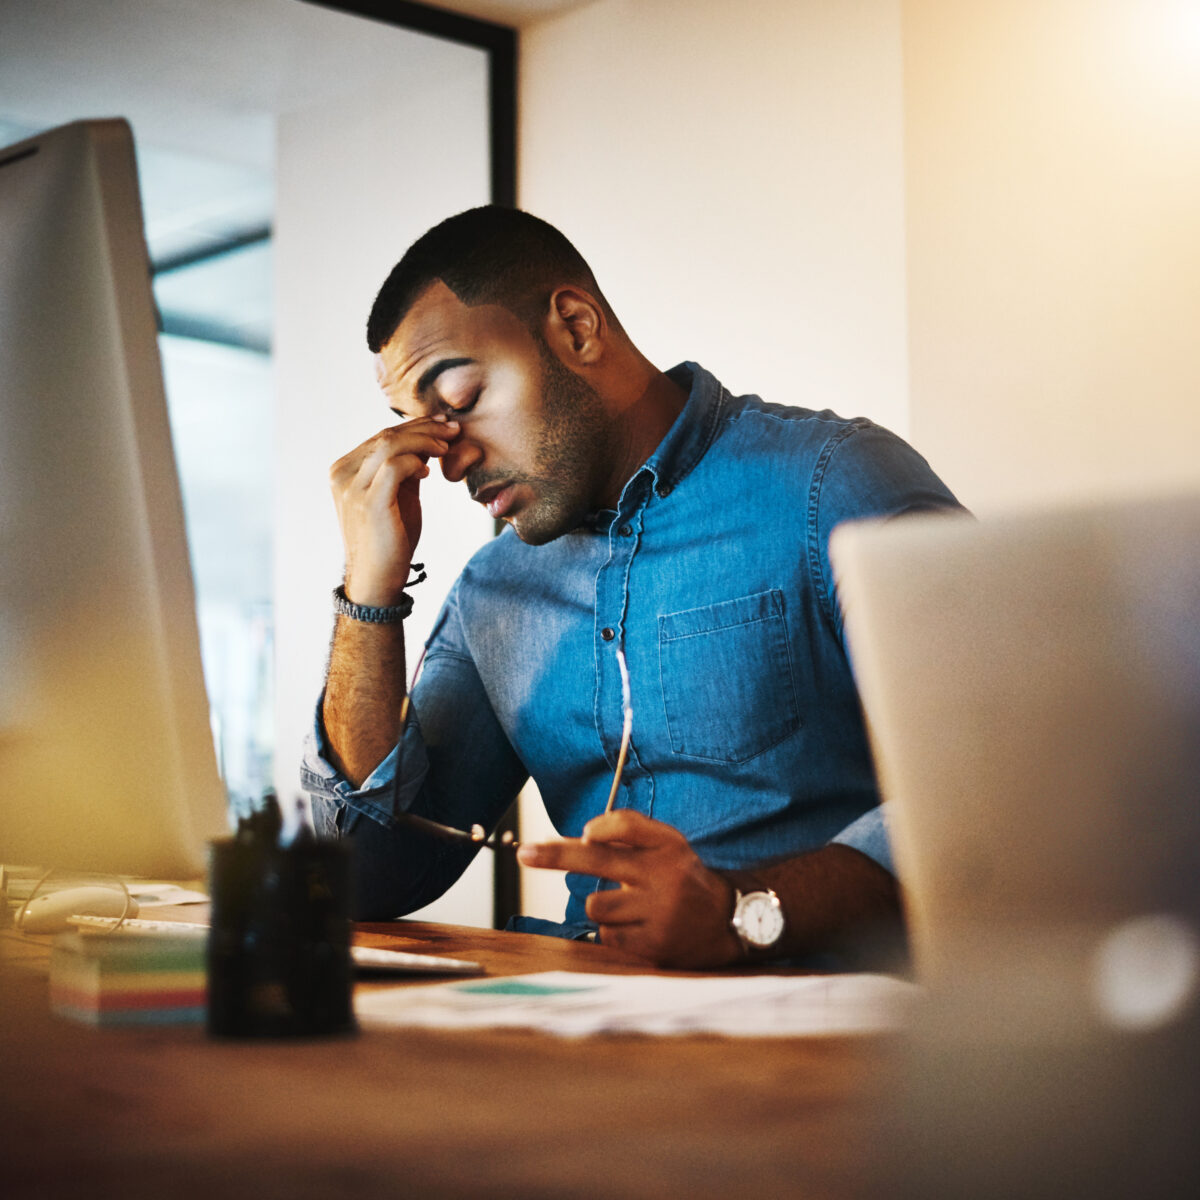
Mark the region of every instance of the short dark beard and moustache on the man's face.
<instances>
[{"instance_id":1,"label":"short dark beard and moustache on the man's face","mask_svg":"<svg viewBox=\"0 0 1200 1200\"><path fill-rule=\"evenodd\" d=\"M577 528L595 510L613 462L613 431L596 390L554 356L542 338L541 430L528 472L467 475L474 493L490 482L526 484L533 502L510 521L529 546L544 546Z\"/></svg>"}]
</instances>

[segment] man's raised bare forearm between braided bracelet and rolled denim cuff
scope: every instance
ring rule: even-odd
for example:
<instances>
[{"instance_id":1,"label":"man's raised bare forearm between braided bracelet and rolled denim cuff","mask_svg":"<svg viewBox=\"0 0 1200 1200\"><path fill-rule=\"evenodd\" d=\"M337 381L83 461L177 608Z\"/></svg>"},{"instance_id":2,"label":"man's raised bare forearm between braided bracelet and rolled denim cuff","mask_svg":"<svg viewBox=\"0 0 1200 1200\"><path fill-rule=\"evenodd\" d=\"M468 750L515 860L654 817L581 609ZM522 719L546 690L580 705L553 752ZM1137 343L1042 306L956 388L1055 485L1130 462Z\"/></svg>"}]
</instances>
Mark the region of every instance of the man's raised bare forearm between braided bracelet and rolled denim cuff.
<instances>
[{"instance_id":1,"label":"man's raised bare forearm between braided bracelet and rolled denim cuff","mask_svg":"<svg viewBox=\"0 0 1200 1200\"><path fill-rule=\"evenodd\" d=\"M406 692L404 630L338 617L322 721L332 763L359 787L400 734Z\"/></svg>"}]
</instances>

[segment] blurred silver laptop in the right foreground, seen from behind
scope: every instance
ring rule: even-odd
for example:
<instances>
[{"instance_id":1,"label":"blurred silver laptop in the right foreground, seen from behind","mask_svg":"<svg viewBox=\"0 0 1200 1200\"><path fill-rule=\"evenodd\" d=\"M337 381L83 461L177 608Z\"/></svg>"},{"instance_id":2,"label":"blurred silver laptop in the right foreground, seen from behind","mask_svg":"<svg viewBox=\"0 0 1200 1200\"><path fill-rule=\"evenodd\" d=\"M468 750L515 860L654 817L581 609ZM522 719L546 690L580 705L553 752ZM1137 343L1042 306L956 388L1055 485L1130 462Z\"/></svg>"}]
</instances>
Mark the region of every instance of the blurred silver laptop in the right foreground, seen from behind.
<instances>
[{"instance_id":1,"label":"blurred silver laptop in the right foreground, seen from behind","mask_svg":"<svg viewBox=\"0 0 1200 1200\"><path fill-rule=\"evenodd\" d=\"M1200 496L830 557L930 995L875 1182L1200 1194Z\"/></svg>"}]
</instances>

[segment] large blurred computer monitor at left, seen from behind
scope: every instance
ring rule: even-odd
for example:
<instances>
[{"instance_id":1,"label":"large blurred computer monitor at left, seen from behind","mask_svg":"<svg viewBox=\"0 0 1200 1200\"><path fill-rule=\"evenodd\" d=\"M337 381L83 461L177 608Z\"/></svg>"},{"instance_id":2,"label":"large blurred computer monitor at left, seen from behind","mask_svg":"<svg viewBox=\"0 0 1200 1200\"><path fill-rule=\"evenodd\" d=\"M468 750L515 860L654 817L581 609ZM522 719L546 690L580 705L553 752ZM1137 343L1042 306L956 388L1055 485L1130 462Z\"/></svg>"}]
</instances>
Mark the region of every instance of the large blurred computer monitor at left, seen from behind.
<instances>
[{"instance_id":1,"label":"large blurred computer monitor at left, seen from behind","mask_svg":"<svg viewBox=\"0 0 1200 1200\"><path fill-rule=\"evenodd\" d=\"M133 138L80 121L0 151L0 863L226 832Z\"/></svg>"}]
</instances>

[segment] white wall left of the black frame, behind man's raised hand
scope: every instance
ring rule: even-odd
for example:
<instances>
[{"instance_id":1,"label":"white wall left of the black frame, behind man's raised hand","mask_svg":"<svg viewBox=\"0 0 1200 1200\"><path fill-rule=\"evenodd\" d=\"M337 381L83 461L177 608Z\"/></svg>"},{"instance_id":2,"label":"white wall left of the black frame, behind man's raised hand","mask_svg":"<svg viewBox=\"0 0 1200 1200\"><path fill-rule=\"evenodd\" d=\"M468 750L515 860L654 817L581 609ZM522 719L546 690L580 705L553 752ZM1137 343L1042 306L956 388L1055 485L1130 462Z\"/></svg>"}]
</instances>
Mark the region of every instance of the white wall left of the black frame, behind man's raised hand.
<instances>
[{"instance_id":1,"label":"white wall left of the black frame, behind man's raised hand","mask_svg":"<svg viewBox=\"0 0 1200 1200\"><path fill-rule=\"evenodd\" d=\"M386 36L386 35L383 35ZM412 35L401 35L412 36ZM276 775L298 791L332 629L330 593L342 547L330 464L391 424L366 348L379 284L409 242L450 212L485 203L486 70L482 52L428 42L420 68L280 121L276 376ZM491 520L434 472L422 487L418 557L430 580L414 592L410 646L425 635ZM491 924L491 863L480 860L430 913Z\"/></svg>"}]
</instances>

